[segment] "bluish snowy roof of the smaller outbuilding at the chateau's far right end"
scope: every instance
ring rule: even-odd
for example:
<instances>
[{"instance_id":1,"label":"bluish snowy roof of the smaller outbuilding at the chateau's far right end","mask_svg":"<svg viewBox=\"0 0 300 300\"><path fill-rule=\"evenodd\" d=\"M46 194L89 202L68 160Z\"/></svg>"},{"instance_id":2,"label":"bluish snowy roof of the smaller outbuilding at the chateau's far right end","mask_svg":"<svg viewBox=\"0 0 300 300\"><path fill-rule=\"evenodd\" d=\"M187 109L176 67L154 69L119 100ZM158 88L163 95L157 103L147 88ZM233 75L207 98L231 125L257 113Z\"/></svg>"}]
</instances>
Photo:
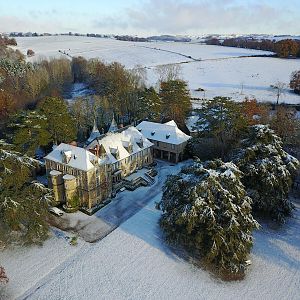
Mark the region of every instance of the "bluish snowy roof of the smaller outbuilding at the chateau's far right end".
<instances>
[{"instance_id":1,"label":"bluish snowy roof of the smaller outbuilding at the chateau's far right end","mask_svg":"<svg viewBox=\"0 0 300 300\"><path fill-rule=\"evenodd\" d=\"M147 139L179 145L191 137L181 131L172 120L165 124L143 121L136 127Z\"/></svg>"}]
</instances>

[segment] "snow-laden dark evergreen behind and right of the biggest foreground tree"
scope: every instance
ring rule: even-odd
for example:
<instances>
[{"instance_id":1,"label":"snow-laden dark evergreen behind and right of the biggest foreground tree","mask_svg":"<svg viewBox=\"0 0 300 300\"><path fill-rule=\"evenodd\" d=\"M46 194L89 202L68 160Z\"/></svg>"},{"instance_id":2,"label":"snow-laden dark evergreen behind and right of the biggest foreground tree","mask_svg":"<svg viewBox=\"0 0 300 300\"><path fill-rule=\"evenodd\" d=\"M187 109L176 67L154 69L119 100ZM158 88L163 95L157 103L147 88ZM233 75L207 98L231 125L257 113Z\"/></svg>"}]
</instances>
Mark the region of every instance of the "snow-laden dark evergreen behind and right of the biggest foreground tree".
<instances>
[{"instance_id":1,"label":"snow-laden dark evergreen behind and right of the biggest foreground tree","mask_svg":"<svg viewBox=\"0 0 300 300\"><path fill-rule=\"evenodd\" d=\"M282 149L281 139L267 125L250 127L243 146L234 161L244 173L254 212L284 222L293 210L288 194L299 161Z\"/></svg>"}]
</instances>

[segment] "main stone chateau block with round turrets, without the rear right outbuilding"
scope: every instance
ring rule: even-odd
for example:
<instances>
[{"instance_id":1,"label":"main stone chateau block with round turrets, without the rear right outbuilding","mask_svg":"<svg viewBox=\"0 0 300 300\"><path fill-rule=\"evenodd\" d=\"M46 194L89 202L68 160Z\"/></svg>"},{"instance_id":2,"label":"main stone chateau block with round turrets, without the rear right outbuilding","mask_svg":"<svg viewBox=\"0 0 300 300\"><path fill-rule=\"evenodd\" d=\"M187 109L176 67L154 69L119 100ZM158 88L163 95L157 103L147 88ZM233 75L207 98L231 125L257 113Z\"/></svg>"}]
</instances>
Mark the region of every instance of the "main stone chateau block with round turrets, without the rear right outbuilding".
<instances>
[{"instance_id":1,"label":"main stone chateau block with round turrets, without the rear right outbuilding","mask_svg":"<svg viewBox=\"0 0 300 300\"><path fill-rule=\"evenodd\" d=\"M92 213L117 183L153 162L153 144L134 127L93 134L85 148L62 143L45 157L55 204L68 212Z\"/></svg>"}]
</instances>

